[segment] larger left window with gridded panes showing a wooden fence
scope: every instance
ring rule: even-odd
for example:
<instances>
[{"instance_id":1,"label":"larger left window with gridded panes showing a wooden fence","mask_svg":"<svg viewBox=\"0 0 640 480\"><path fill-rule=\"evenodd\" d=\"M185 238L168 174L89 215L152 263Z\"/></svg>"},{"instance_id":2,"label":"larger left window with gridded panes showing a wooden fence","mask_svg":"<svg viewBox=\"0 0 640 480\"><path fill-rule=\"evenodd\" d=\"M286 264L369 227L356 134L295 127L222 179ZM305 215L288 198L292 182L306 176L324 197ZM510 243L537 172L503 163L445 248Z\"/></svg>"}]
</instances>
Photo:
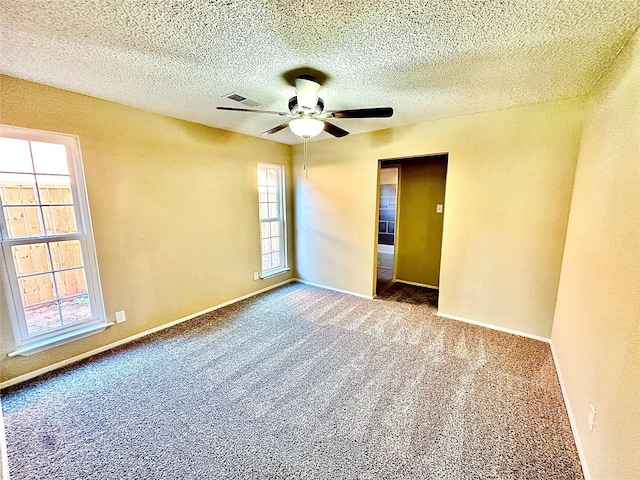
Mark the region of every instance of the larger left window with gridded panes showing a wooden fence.
<instances>
[{"instance_id":1,"label":"larger left window with gridded panes showing a wooden fence","mask_svg":"<svg viewBox=\"0 0 640 480\"><path fill-rule=\"evenodd\" d=\"M0 128L0 230L17 346L105 324L93 241L82 228L88 209L78 190L77 143L67 135Z\"/></svg>"}]
</instances>

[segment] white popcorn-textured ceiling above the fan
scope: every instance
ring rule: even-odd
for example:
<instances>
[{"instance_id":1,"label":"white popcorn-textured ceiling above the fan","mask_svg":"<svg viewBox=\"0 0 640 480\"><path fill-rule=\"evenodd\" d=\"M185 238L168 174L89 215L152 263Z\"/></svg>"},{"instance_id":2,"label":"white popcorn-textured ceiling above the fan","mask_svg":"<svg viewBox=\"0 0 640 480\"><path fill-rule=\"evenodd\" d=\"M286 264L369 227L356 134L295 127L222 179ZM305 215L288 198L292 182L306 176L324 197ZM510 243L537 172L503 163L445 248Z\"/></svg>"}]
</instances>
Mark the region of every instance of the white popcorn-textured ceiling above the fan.
<instances>
[{"instance_id":1,"label":"white popcorn-textured ceiling above the fan","mask_svg":"<svg viewBox=\"0 0 640 480\"><path fill-rule=\"evenodd\" d=\"M221 97L285 111L296 69L326 75L327 109L394 108L335 121L359 133L587 94L640 25L640 0L0 0L0 12L2 73L254 136L283 120L216 110L243 107Z\"/></svg>"}]
</instances>

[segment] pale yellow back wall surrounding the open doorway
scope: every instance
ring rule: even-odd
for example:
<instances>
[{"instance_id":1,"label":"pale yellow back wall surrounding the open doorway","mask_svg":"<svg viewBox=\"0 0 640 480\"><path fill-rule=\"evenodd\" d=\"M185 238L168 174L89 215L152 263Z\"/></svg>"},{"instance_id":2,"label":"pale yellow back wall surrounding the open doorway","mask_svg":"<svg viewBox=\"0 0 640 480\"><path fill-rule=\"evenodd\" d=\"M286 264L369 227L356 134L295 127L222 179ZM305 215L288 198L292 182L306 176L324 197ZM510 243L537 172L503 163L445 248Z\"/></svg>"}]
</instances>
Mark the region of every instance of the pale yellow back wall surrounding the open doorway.
<instances>
[{"instance_id":1,"label":"pale yellow back wall surrounding the open doorway","mask_svg":"<svg viewBox=\"0 0 640 480\"><path fill-rule=\"evenodd\" d=\"M585 105L577 98L311 142L309 178L296 147L297 274L372 295L378 160L449 153L440 310L549 337Z\"/></svg>"}]
</instances>

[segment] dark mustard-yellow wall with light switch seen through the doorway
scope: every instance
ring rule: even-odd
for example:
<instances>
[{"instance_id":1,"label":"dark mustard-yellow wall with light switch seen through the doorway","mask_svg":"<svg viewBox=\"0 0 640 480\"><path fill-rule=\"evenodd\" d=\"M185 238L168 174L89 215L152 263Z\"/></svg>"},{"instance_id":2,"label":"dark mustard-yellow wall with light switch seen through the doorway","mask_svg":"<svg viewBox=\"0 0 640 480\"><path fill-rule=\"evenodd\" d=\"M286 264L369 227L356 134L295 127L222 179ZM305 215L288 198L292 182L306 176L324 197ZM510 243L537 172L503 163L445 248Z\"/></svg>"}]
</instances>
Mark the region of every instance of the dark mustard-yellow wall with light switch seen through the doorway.
<instances>
[{"instance_id":1,"label":"dark mustard-yellow wall with light switch seen through the doorway","mask_svg":"<svg viewBox=\"0 0 640 480\"><path fill-rule=\"evenodd\" d=\"M441 156L407 160L400 167L396 279L437 287L447 160Z\"/></svg>"}]
</instances>

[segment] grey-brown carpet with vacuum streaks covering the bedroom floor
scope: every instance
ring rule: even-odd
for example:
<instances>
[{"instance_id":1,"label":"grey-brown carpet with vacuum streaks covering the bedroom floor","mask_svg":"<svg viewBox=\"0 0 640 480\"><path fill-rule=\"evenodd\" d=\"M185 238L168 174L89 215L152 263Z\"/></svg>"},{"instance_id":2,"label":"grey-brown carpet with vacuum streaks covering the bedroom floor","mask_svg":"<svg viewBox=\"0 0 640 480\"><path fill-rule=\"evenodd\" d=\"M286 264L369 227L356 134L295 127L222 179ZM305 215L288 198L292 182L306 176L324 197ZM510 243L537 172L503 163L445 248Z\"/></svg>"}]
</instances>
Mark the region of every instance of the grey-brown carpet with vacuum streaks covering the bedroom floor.
<instances>
[{"instance_id":1,"label":"grey-brown carpet with vacuum streaks covering the bedroom floor","mask_svg":"<svg viewBox=\"0 0 640 480\"><path fill-rule=\"evenodd\" d=\"M12 479L581 479L549 346L287 285L2 392Z\"/></svg>"}]
</instances>

